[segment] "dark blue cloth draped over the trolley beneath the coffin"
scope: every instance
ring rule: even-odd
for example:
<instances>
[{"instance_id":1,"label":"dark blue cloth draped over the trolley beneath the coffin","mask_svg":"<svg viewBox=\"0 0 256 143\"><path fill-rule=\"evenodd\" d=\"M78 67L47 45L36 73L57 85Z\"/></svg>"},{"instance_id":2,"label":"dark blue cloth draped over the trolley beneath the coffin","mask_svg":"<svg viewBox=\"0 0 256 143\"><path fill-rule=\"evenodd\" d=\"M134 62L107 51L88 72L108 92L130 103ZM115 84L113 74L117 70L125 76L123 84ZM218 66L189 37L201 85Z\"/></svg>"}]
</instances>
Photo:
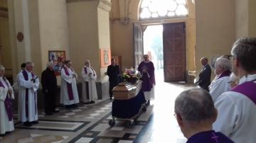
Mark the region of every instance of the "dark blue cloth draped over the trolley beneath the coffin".
<instances>
[{"instance_id":1,"label":"dark blue cloth draped over the trolley beneath the coffin","mask_svg":"<svg viewBox=\"0 0 256 143\"><path fill-rule=\"evenodd\" d=\"M139 91L137 96L128 100L114 100L112 102L112 116L115 118L130 119L139 113L142 104L145 103L143 91Z\"/></svg>"}]
</instances>

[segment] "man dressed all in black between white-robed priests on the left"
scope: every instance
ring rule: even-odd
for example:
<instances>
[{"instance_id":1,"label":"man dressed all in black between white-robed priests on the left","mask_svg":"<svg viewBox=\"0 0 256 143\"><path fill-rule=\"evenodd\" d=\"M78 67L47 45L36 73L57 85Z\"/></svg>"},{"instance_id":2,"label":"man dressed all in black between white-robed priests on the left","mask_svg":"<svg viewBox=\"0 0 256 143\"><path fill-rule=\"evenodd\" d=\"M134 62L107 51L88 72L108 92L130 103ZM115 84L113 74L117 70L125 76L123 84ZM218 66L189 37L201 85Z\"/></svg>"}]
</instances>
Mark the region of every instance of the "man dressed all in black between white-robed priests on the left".
<instances>
[{"instance_id":1,"label":"man dressed all in black between white-robed priests on the left","mask_svg":"<svg viewBox=\"0 0 256 143\"><path fill-rule=\"evenodd\" d=\"M51 62L47 63L46 70L43 71L41 76L41 82L45 94L45 113L46 115L53 115L53 113L58 112L58 110L55 110L57 79Z\"/></svg>"}]
</instances>

